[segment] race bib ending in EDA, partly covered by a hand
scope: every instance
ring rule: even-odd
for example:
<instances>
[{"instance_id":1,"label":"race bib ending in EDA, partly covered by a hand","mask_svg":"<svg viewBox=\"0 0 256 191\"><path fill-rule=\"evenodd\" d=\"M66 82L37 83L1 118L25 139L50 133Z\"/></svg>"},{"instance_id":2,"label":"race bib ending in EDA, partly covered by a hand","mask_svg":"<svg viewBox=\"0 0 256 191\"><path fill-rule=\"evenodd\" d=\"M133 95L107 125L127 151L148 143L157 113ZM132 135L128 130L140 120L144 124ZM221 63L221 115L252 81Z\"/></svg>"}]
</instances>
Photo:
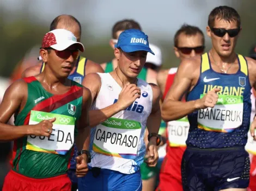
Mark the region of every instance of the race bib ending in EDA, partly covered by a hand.
<instances>
[{"instance_id":1,"label":"race bib ending in EDA, partly covered by a hand","mask_svg":"<svg viewBox=\"0 0 256 191\"><path fill-rule=\"evenodd\" d=\"M42 120L54 117L56 117L56 121L53 123L51 136L28 136L26 149L65 155L72 148L76 118L56 113L31 111L29 125L38 124Z\"/></svg>"}]
</instances>

